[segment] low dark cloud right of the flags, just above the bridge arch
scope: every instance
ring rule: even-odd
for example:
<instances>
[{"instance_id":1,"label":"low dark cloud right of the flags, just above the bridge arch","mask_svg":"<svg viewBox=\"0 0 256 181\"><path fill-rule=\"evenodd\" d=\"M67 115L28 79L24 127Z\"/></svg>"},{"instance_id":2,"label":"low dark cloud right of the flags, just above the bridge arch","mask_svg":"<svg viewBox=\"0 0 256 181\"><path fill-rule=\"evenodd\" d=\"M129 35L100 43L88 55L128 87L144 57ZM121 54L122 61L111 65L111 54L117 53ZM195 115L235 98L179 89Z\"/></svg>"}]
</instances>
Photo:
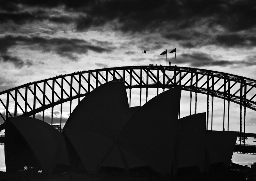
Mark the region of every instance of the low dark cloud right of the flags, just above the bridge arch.
<instances>
[{"instance_id":1,"label":"low dark cloud right of the flags, just above the bridge arch","mask_svg":"<svg viewBox=\"0 0 256 181\"><path fill-rule=\"evenodd\" d=\"M192 67L205 67L205 66L255 66L256 65L256 56L247 57L244 60L215 60L211 55L202 52L194 53L183 53L179 56L179 59L176 60L179 63L187 63Z\"/></svg>"}]
</instances>

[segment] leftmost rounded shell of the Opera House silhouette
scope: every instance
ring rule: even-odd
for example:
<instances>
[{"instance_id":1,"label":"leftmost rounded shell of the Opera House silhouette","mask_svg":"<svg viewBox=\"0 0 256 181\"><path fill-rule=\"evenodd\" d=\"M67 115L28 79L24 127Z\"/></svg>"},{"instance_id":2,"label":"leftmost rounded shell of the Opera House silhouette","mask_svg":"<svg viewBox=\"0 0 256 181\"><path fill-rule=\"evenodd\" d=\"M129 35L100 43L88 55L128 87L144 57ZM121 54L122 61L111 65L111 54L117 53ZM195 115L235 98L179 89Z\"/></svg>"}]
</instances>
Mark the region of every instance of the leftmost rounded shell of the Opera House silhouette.
<instances>
[{"instance_id":1,"label":"leftmost rounded shell of the Opera House silhouette","mask_svg":"<svg viewBox=\"0 0 256 181\"><path fill-rule=\"evenodd\" d=\"M61 146L60 132L46 122L24 116L6 121L6 171L34 167L50 173L59 159Z\"/></svg>"}]
</instances>

